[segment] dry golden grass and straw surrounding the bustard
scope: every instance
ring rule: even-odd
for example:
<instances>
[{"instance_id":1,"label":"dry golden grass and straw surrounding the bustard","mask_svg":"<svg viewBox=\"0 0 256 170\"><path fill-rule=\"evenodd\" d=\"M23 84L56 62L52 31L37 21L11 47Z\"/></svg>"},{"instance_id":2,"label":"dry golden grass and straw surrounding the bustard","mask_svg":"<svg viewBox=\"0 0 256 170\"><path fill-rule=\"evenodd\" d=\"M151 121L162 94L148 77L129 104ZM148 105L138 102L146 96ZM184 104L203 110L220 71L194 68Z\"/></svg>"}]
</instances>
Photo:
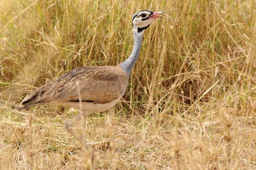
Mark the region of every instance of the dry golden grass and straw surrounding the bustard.
<instances>
[{"instance_id":1,"label":"dry golden grass and straw surrounding the bustard","mask_svg":"<svg viewBox=\"0 0 256 170\"><path fill-rule=\"evenodd\" d=\"M121 101L87 121L93 168L256 168L255 0L0 0L0 169L82 168L64 129L77 111L14 107L68 70L124 61L144 9L167 16Z\"/></svg>"}]
</instances>

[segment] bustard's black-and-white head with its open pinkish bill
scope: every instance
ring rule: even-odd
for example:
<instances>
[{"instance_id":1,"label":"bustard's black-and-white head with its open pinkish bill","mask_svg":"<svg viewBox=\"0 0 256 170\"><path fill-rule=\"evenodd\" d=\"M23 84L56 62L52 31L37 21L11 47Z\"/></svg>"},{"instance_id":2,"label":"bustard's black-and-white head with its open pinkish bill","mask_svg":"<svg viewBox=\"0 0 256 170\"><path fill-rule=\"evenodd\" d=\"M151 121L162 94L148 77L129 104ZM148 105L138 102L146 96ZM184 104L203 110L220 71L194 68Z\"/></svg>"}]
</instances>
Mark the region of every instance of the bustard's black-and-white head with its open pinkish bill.
<instances>
[{"instance_id":1,"label":"bustard's black-and-white head with its open pinkish bill","mask_svg":"<svg viewBox=\"0 0 256 170\"><path fill-rule=\"evenodd\" d=\"M142 10L133 15L132 27L134 31L138 33L144 33L144 30L156 20L156 18L162 17L165 12L152 12L148 10Z\"/></svg>"}]
</instances>

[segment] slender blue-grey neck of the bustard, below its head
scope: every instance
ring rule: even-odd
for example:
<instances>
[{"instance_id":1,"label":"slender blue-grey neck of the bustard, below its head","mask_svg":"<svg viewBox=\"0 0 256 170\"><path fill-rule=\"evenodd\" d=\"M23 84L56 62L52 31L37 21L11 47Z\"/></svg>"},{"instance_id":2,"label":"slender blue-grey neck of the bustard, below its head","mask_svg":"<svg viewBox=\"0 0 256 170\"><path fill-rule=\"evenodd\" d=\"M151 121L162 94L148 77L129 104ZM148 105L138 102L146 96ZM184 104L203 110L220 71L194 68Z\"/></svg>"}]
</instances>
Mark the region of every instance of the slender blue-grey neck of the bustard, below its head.
<instances>
[{"instance_id":1,"label":"slender blue-grey neck of the bustard, below its head","mask_svg":"<svg viewBox=\"0 0 256 170\"><path fill-rule=\"evenodd\" d=\"M138 33L138 31L134 29L133 32L134 32L134 46L133 46L132 54L123 63L119 64L119 66L126 72L128 76L130 75L130 72L139 57L144 30Z\"/></svg>"}]
</instances>

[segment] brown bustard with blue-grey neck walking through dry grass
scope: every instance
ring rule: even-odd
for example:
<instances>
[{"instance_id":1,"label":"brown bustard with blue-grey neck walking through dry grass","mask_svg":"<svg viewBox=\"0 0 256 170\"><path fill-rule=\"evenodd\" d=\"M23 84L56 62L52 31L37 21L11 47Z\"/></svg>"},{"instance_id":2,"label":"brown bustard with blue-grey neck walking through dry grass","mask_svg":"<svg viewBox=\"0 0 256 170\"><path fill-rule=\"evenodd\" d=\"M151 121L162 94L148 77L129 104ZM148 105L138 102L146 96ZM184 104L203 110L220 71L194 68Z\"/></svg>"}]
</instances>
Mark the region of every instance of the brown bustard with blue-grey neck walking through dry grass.
<instances>
[{"instance_id":1,"label":"brown bustard with blue-grey neck walking through dry grass","mask_svg":"<svg viewBox=\"0 0 256 170\"><path fill-rule=\"evenodd\" d=\"M156 18L164 16L160 15L163 13L141 10L133 15L134 47L124 62L116 66L85 66L70 70L32 91L16 109L53 104L80 110L78 115L66 123L65 128L82 146L88 148L84 144L84 137L73 130L74 123L81 117L86 121L88 115L106 111L120 100L139 57L144 32Z\"/></svg>"}]
</instances>

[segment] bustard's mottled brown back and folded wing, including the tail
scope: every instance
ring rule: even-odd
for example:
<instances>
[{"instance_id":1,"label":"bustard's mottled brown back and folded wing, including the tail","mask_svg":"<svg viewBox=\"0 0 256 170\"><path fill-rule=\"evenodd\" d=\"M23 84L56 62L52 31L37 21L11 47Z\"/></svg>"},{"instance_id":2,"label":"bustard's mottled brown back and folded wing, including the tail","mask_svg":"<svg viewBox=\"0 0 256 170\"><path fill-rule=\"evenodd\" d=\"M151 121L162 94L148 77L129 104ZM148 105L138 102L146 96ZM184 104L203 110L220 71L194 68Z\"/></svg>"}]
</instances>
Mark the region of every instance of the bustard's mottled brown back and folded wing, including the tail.
<instances>
[{"instance_id":1,"label":"bustard's mottled brown back and folded wing, including the tail","mask_svg":"<svg viewBox=\"0 0 256 170\"><path fill-rule=\"evenodd\" d=\"M128 76L119 66L76 68L37 88L16 108L22 109L51 102L79 102L78 86L83 102L109 103L124 94L127 83Z\"/></svg>"}]
</instances>

